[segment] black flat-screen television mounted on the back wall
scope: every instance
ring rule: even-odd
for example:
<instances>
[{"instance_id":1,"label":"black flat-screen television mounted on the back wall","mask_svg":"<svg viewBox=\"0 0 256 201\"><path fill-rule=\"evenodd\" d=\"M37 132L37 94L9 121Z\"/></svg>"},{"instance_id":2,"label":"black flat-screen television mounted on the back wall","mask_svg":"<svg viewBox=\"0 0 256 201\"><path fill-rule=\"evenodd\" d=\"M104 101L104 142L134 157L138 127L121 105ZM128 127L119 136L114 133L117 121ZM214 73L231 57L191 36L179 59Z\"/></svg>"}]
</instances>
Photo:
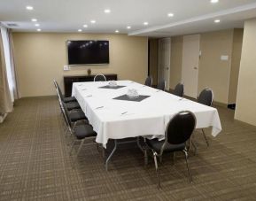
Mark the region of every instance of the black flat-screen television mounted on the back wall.
<instances>
[{"instance_id":1,"label":"black flat-screen television mounted on the back wall","mask_svg":"<svg viewBox=\"0 0 256 201\"><path fill-rule=\"evenodd\" d=\"M109 64L108 41L67 41L68 65Z\"/></svg>"}]
</instances>

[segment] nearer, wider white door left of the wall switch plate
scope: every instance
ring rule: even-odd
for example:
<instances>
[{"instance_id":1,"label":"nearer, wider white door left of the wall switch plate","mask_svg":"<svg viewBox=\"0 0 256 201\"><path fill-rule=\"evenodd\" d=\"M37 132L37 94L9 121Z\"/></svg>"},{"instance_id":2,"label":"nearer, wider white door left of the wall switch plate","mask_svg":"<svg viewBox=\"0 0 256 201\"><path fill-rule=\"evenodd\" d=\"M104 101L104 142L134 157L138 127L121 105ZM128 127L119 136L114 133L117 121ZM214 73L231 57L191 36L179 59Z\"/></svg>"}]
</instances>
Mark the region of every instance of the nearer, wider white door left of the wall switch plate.
<instances>
[{"instance_id":1,"label":"nearer, wider white door left of the wall switch plate","mask_svg":"<svg viewBox=\"0 0 256 201\"><path fill-rule=\"evenodd\" d=\"M182 83L184 84L184 95L194 98L198 96L199 43L200 35L183 36Z\"/></svg>"}]
</instances>

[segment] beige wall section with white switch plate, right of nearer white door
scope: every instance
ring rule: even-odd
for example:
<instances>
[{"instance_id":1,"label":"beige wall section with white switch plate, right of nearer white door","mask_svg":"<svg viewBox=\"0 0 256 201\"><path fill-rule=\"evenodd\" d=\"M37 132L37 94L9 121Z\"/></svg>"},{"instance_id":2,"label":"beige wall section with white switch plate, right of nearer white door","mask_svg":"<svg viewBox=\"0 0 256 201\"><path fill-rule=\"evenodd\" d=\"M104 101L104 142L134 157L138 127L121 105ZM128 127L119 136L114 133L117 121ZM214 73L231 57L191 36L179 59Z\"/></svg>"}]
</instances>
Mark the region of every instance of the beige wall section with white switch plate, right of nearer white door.
<instances>
[{"instance_id":1,"label":"beige wall section with white switch plate, right of nearer white door","mask_svg":"<svg viewBox=\"0 0 256 201\"><path fill-rule=\"evenodd\" d=\"M213 89L214 101L222 104L228 104L232 42L231 29L201 34L198 94L209 87ZM222 61L221 55L229 56L229 60Z\"/></svg>"}]
</instances>

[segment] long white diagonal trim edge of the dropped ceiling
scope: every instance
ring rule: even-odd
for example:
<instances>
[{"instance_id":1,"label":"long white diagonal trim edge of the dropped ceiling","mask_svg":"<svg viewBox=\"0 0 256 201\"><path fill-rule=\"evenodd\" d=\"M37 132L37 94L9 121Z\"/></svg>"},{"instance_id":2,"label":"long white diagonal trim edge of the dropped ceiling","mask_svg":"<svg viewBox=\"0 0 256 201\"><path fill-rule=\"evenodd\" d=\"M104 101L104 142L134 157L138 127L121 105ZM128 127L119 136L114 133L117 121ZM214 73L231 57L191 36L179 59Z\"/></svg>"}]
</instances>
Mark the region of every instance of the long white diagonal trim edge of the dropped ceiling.
<instances>
[{"instance_id":1,"label":"long white diagonal trim edge of the dropped ceiling","mask_svg":"<svg viewBox=\"0 0 256 201\"><path fill-rule=\"evenodd\" d=\"M177 21L175 23L170 23L170 24L163 25L163 26L155 26L155 27L144 28L144 29L141 29L141 30L138 30L138 31L135 31L135 32L128 33L128 35L142 35L142 34L146 34L146 33L150 33L150 32L159 31L160 29L164 29L164 28L177 27L177 26L190 24L190 23L193 23L193 22L198 22L198 21L202 21L202 20L206 20L206 19L220 18L220 17L226 16L226 15L235 14L237 12L250 11L252 9L256 9L256 3L246 4L246 5L243 5L243 6L238 6L238 7L235 7L235 8L223 10L221 12L213 12L213 13L209 13L209 14L206 14L206 15L201 15L201 16L198 16L198 17L194 17L194 18L191 18L191 19L184 19L184 20Z\"/></svg>"}]
</instances>

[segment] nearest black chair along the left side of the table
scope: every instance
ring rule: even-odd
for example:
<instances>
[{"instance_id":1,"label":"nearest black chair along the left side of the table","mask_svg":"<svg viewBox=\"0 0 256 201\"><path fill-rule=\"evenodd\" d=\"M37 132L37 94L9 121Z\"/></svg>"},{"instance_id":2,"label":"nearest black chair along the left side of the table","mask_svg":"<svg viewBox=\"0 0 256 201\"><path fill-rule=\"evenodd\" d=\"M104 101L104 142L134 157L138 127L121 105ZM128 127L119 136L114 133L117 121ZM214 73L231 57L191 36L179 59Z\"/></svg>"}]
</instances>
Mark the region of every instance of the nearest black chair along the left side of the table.
<instances>
[{"instance_id":1,"label":"nearest black chair along the left side of the table","mask_svg":"<svg viewBox=\"0 0 256 201\"><path fill-rule=\"evenodd\" d=\"M63 113L66 120L66 126L69 132L75 137L74 143L72 144L72 147L70 149L70 155L72 154L75 143L81 142L76 153L76 156L78 157L79 152L81 151L81 147L85 143L85 141L92 140L92 143L94 143L97 133L93 130L93 128L88 124L88 121L86 120L78 120L73 123L69 116L69 112L67 111L66 104L63 104L62 102L62 106L64 109ZM89 144L91 143L86 143L86 145Z\"/></svg>"}]
</instances>

